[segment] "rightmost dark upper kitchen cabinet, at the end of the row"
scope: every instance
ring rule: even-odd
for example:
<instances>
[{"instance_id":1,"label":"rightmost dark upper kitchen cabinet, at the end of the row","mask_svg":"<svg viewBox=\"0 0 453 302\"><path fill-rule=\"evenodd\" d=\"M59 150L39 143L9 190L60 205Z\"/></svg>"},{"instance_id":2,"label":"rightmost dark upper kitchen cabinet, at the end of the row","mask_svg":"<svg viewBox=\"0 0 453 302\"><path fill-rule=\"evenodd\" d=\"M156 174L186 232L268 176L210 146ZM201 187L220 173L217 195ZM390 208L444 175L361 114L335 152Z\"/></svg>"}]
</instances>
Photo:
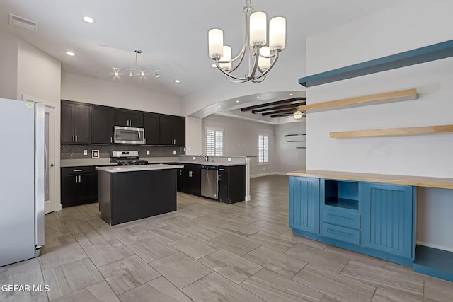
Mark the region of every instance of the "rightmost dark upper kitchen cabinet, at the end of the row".
<instances>
[{"instance_id":1,"label":"rightmost dark upper kitchen cabinet, at the end of the row","mask_svg":"<svg viewBox=\"0 0 453 302\"><path fill-rule=\"evenodd\" d=\"M161 115L160 134L161 145L185 146L185 117Z\"/></svg>"}]
</instances>

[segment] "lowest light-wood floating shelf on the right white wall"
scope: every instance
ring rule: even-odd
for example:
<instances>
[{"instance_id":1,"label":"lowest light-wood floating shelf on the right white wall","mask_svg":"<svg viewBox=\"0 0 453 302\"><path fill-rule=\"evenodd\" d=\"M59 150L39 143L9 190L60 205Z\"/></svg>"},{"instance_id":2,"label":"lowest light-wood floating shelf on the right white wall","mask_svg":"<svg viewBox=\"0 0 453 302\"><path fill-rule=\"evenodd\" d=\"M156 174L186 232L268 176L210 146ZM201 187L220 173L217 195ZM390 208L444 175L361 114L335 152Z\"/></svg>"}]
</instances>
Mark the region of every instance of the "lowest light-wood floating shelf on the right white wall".
<instances>
[{"instance_id":1,"label":"lowest light-wood floating shelf on the right white wall","mask_svg":"<svg viewBox=\"0 0 453 302\"><path fill-rule=\"evenodd\" d=\"M453 124L446 124L442 126L331 132L330 137L331 139L357 139L365 137L406 137L414 135L430 135L442 133L453 133Z\"/></svg>"}]
</instances>

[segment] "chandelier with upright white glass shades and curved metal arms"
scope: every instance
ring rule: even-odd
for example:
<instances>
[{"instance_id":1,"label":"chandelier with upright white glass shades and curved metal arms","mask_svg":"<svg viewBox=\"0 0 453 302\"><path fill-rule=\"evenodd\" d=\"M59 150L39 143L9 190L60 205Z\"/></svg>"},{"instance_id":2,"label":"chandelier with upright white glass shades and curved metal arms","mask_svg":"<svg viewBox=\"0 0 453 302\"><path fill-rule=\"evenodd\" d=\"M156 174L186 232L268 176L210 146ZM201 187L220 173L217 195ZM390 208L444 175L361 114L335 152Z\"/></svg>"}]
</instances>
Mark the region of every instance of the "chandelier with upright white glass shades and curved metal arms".
<instances>
[{"instance_id":1,"label":"chandelier with upright white glass shades and curved metal arms","mask_svg":"<svg viewBox=\"0 0 453 302\"><path fill-rule=\"evenodd\" d=\"M231 47L224 45L224 33L218 28L208 32L209 56L215 61L217 69L222 71L226 79L233 83L251 81L260 83L277 62L278 55L285 48L286 19L275 17L269 21L269 45L266 45L267 20L262 11L255 11L251 0L246 0L243 7L246 17L246 32L242 49L231 59ZM241 65L248 50L248 72L243 76L232 73ZM233 62L236 66L233 67Z\"/></svg>"}]
</instances>

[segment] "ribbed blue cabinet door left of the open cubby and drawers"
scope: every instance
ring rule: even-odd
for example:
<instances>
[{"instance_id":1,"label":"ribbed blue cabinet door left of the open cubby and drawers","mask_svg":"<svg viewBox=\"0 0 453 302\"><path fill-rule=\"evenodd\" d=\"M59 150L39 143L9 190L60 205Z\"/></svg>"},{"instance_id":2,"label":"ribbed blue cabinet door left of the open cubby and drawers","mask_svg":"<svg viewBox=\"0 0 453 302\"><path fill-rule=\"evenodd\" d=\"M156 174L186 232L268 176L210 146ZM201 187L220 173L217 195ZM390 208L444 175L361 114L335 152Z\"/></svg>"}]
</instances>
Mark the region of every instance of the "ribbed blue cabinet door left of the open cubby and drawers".
<instances>
[{"instance_id":1,"label":"ribbed blue cabinet door left of the open cubby and drawers","mask_svg":"<svg viewBox=\"0 0 453 302\"><path fill-rule=\"evenodd\" d=\"M319 234L319 178L289 177L289 227Z\"/></svg>"}]
</instances>

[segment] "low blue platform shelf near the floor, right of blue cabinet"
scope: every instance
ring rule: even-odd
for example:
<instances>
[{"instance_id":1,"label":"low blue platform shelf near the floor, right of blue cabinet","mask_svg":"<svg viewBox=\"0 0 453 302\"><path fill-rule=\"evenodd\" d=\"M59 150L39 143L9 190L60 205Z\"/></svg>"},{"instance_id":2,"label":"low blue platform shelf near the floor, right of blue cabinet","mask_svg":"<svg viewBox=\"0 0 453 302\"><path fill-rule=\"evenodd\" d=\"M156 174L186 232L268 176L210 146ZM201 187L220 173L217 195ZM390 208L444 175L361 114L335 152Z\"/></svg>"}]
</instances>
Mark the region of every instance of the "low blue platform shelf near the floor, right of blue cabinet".
<instances>
[{"instance_id":1,"label":"low blue platform shelf near the floor, right of blue cabinet","mask_svg":"<svg viewBox=\"0 0 453 302\"><path fill-rule=\"evenodd\" d=\"M432 277L453 281L453 252L417 245L413 270Z\"/></svg>"}]
</instances>

